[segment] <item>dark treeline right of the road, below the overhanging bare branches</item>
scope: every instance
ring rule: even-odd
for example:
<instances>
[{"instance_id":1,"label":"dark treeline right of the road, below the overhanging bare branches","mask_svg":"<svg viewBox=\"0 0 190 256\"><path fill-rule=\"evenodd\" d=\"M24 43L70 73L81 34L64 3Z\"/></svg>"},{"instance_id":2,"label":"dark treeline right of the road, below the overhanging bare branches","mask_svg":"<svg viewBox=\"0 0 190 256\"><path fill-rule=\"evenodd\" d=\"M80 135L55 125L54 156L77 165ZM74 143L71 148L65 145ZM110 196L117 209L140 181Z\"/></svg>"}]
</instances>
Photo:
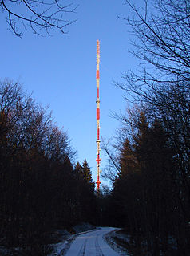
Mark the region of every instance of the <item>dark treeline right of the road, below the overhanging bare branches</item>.
<instances>
[{"instance_id":1,"label":"dark treeline right of the road, below the overhanging bare branches","mask_svg":"<svg viewBox=\"0 0 190 256\"><path fill-rule=\"evenodd\" d=\"M156 106L152 101L122 116L123 126L113 145L117 151L105 148L117 173L113 190L102 197L102 223L124 228L131 255L188 256L190 90L156 91L156 99L159 94ZM107 177L113 178L111 173Z\"/></svg>"}]
</instances>

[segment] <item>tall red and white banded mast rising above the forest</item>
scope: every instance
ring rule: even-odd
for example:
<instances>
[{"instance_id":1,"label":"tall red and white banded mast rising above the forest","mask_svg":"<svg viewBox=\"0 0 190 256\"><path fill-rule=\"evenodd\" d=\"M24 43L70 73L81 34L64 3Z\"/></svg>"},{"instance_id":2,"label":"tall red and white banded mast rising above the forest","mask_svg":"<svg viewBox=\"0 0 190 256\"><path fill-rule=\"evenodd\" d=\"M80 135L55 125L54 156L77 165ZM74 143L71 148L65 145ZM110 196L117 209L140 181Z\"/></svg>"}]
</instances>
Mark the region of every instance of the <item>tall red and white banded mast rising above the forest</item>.
<instances>
[{"instance_id":1,"label":"tall red and white banded mast rising above the forest","mask_svg":"<svg viewBox=\"0 0 190 256\"><path fill-rule=\"evenodd\" d=\"M99 87L100 87L100 41L97 40L97 193L100 192L100 95L99 95Z\"/></svg>"}]
</instances>

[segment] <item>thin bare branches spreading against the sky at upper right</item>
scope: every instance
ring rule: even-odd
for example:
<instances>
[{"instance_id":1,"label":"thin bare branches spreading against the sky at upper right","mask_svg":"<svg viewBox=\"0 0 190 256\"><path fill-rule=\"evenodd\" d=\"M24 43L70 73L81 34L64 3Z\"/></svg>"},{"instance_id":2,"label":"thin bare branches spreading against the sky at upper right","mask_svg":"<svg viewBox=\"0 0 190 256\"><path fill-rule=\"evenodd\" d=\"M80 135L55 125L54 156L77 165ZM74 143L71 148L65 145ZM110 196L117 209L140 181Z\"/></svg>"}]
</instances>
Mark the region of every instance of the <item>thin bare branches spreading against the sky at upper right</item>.
<instances>
[{"instance_id":1,"label":"thin bare branches spreading against the sky at upper right","mask_svg":"<svg viewBox=\"0 0 190 256\"><path fill-rule=\"evenodd\" d=\"M128 100L153 102L148 89L160 91L163 85L188 87L190 67L190 8L188 0L144 0L137 8L126 4L133 17L124 18L133 33L132 54L140 60L138 71L124 74L127 83L117 84L128 91ZM152 3L151 2L151 3ZM163 91L162 91L163 92ZM132 98L130 98L132 96ZM156 104L156 102L154 102Z\"/></svg>"}]
</instances>

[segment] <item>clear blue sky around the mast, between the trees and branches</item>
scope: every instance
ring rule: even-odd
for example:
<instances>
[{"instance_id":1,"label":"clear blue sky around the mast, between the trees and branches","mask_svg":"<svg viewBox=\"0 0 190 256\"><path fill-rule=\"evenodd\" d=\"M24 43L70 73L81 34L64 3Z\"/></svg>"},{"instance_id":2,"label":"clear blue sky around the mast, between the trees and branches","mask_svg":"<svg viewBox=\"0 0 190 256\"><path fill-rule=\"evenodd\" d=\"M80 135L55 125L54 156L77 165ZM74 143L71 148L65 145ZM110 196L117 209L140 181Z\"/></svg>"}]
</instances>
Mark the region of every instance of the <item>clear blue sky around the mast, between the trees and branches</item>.
<instances>
[{"instance_id":1,"label":"clear blue sky around the mast, between the trees and branches","mask_svg":"<svg viewBox=\"0 0 190 256\"><path fill-rule=\"evenodd\" d=\"M1 14L0 77L19 80L34 99L49 105L58 127L64 127L77 149L76 161L85 158L96 179L96 41L101 42L101 136L114 136L119 123L111 112L125 111L123 91L113 86L121 72L134 67L129 54L129 28L117 18L128 15L122 0L77 0L76 19L68 34L40 37L26 30L22 39L7 30ZM142 2L139 1L139 2ZM107 163L101 152L101 169Z\"/></svg>"}]
</instances>

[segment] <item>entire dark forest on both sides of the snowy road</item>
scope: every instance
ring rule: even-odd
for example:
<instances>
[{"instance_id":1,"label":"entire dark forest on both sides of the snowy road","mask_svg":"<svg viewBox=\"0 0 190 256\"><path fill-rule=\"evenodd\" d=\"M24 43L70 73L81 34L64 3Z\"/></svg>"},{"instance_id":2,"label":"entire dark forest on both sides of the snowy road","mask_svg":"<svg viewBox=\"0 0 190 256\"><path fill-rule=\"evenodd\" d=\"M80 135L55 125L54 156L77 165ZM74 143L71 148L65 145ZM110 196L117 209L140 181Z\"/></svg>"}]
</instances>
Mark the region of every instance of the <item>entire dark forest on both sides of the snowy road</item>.
<instances>
[{"instance_id":1,"label":"entire dark forest on both sides of the snowy road","mask_svg":"<svg viewBox=\"0 0 190 256\"><path fill-rule=\"evenodd\" d=\"M0 82L0 242L20 255L48 255L53 230L81 222L120 227L132 256L190 254L189 1L156 0L152 12L125 2L133 15L119 18L141 65L115 82L128 107L101 144L111 189L96 192L48 108Z\"/></svg>"}]
</instances>

